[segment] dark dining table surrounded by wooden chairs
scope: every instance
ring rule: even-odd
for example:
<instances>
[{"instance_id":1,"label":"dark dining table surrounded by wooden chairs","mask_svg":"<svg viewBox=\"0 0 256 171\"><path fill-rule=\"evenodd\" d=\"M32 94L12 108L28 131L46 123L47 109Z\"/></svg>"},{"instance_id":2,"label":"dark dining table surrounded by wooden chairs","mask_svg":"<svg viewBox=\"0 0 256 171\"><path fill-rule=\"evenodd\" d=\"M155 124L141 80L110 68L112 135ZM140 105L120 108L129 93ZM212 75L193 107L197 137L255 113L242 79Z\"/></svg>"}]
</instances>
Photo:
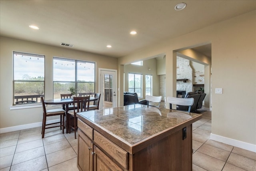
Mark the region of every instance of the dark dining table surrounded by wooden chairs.
<instances>
[{"instance_id":1,"label":"dark dining table surrounded by wooden chairs","mask_svg":"<svg viewBox=\"0 0 256 171\"><path fill-rule=\"evenodd\" d=\"M98 97L90 97L89 101L95 101L97 100ZM68 104L74 103L74 99L72 98L67 98L67 99L49 99L49 100L44 100L44 103L46 105L62 105L62 109L66 111L66 133L68 133L68 126L69 126L69 119L67 118L68 116Z\"/></svg>"}]
</instances>

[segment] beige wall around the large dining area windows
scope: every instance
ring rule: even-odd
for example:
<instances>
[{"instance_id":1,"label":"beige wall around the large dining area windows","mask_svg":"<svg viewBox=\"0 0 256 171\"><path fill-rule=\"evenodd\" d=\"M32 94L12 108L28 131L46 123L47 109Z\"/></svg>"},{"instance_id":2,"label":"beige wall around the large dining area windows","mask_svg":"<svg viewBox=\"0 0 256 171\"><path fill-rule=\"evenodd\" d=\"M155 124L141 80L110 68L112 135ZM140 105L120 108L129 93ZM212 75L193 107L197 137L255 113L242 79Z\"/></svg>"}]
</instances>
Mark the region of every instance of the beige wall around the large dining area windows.
<instances>
[{"instance_id":1,"label":"beige wall around the large dining area windows","mask_svg":"<svg viewBox=\"0 0 256 171\"><path fill-rule=\"evenodd\" d=\"M42 122L42 107L10 110L12 106L12 51L45 55L45 99L53 97L53 56L96 62L96 92L98 68L117 70L117 58L0 37L0 128ZM49 109L53 108L48 105ZM59 107L59 106L58 106Z\"/></svg>"}]
</instances>

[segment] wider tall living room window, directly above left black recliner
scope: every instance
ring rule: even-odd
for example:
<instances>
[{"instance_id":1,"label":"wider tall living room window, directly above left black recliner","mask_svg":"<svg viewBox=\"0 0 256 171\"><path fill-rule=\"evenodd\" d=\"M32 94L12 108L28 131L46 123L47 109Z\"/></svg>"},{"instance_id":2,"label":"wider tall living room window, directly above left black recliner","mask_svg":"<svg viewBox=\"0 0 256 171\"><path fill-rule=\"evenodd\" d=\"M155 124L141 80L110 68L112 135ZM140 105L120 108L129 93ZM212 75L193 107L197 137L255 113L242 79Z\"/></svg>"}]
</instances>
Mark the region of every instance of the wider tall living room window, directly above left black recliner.
<instances>
[{"instance_id":1,"label":"wider tall living room window, directly above left black recliner","mask_svg":"<svg viewBox=\"0 0 256 171\"><path fill-rule=\"evenodd\" d=\"M142 74L130 74L129 79L129 92L136 92L138 97L142 97L141 87L142 87Z\"/></svg>"}]
</instances>

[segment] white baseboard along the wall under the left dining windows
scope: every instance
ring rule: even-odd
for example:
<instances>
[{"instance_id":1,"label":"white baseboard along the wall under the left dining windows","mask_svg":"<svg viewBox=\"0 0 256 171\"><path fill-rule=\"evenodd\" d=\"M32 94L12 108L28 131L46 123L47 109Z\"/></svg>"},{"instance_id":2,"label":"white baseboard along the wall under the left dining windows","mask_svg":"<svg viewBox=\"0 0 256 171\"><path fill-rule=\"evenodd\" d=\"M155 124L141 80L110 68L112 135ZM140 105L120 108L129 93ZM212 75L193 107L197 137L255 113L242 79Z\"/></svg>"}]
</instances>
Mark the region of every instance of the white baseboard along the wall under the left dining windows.
<instances>
[{"instance_id":1,"label":"white baseboard along the wall under the left dining windows","mask_svg":"<svg viewBox=\"0 0 256 171\"><path fill-rule=\"evenodd\" d=\"M59 121L60 121L60 119L49 120L49 121L46 121L46 124L54 123L54 122L59 122ZM25 125L14 126L14 127L1 128L0 129L0 133L19 131L19 130L22 130L22 129L41 127L41 126L42 126L42 122L29 123L29 124L25 124Z\"/></svg>"}]
</instances>

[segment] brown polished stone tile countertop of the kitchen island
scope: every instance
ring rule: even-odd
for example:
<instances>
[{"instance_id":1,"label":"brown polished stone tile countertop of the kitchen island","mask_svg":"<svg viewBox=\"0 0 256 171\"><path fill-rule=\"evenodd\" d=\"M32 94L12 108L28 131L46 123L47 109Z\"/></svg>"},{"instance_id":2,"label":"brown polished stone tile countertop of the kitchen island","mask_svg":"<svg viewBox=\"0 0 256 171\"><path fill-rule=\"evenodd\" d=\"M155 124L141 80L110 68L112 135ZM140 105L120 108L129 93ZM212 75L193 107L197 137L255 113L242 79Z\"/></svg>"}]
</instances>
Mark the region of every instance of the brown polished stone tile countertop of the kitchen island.
<instances>
[{"instance_id":1,"label":"brown polished stone tile countertop of the kitchen island","mask_svg":"<svg viewBox=\"0 0 256 171\"><path fill-rule=\"evenodd\" d=\"M135 104L80 112L77 117L133 154L198 121L202 115Z\"/></svg>"}]
</instances>

